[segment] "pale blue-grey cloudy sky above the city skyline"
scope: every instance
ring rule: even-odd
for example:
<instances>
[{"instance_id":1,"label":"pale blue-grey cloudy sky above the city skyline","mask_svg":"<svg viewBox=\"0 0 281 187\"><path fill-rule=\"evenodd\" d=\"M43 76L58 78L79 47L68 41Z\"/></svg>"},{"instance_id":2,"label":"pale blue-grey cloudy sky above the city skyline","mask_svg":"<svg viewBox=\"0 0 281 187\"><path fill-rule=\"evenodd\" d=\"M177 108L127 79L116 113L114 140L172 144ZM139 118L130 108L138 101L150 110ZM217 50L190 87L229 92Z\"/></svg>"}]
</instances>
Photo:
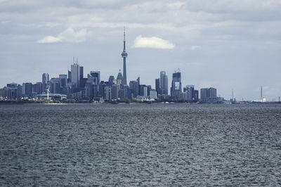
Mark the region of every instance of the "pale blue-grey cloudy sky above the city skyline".
<instances>
[{"instance_id":1,"label":"pale blue-grey cloudy sky above the city skyline","mask_svg":"<svg viewBox=\"0 0 281 187\"><path fill-rule=\"evenodd\" d=\"M224 98L281 96L280 0L0 0L0 86L67 74L73 56L84 76L116 77L124 26L129 80L155 87L165 70L170 86L179 69Z\"/></svg>"}]
</instances>

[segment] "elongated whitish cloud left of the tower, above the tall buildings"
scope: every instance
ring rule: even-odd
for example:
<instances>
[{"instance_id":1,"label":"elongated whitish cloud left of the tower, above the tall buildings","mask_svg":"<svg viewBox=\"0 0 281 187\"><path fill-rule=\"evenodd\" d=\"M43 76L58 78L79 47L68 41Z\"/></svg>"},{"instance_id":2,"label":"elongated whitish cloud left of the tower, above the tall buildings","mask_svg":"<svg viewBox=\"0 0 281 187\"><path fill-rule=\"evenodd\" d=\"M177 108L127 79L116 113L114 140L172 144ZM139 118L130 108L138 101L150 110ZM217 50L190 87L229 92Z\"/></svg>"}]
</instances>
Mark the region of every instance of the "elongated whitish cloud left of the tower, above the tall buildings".
<instances>
[{"instance_id":1,"label":"elongated whitish cloud left of the tower, above the tall buildings","mask_svg":"<svg viewBox=\"0 0 281 187\"><path fill-rule=\"evenodd\" d=\"M37 43L51 44L51 43L58 43L62 41L79 43L85 41L87 35L88 32L86 29L75 32L72 28L68 28L64 32L58 34L58 37L53 37L53 36L44 37L43 39L39 39Z\"/></svg>"}]
</instances>

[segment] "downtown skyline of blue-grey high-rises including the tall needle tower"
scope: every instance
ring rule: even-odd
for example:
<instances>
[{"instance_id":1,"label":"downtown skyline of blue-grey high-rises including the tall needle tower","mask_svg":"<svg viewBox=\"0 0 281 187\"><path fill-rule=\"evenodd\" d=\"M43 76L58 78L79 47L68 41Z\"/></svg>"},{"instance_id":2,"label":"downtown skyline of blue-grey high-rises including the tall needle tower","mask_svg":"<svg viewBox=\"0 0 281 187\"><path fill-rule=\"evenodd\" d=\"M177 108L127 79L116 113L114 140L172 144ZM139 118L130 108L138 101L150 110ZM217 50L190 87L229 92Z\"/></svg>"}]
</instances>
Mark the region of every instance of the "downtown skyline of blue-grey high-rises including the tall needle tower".
<instances>
[{"instance_id":1,"label":"downtown skyline of blue-grey high-rises including the tall needle tower","mask_svg":"<svg viewBox=\"0 0 281 187\"><path fill-rule=\"evenodd\" d=\"M168 75L160 72L160 77L155 79L155 89L151 85L141 84L140 77L127 84L126 79L126 41L124 32L123 74L119 71L116 79L113 75L107 81L100 80L100 71L91 71L84 77L84 67L73 58L71 70L67 75L49 79L48 73L43 73L42 82L32 84L11 83L0 89L1 100L18 100L22 98L51 98L58 100L75 99L79 101L111 101L117 99L136 100L169 100L188 102L216 103L222 98L216 96L215 88L195 90L193 85L182 88L181 72L172 75L170 95L168 94Z\"/></svg>"}]
</instances>

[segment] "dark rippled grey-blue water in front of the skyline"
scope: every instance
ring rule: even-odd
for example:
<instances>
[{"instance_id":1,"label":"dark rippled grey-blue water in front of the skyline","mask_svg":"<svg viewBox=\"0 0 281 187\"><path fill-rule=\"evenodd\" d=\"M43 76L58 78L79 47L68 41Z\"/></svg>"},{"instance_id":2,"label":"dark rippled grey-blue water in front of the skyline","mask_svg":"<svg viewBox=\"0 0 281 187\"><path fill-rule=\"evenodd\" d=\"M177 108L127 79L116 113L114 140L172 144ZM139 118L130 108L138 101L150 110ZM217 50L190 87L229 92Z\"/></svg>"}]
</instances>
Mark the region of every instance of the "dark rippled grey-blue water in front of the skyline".
<instances>
[{"instance_id":1,"label":"dark rippled grey-blue water in front of the skyline","mask_svg":"<svg viewBox=\"0 0 281 187\"><path fill-rule=\"evenodd\" d=\"M280 186L281 105L0 105L0 186Z\"/></svg>"}]
</instances>

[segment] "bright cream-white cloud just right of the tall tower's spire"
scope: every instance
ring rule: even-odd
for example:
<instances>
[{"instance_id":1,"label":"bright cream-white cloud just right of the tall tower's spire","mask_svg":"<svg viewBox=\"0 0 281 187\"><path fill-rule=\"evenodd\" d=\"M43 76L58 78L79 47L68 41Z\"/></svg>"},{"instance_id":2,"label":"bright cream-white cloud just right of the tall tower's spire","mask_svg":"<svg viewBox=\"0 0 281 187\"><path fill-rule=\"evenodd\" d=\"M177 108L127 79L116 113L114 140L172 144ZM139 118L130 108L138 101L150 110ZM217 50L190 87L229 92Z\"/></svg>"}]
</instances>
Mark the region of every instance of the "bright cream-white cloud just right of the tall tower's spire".
<instances>
[{"instance_id":1,"label":"bright cream-white cloud just right of the tall tower's spire","mask_svg":"<svg viewBox=\"0 0 281 187\"><path fill-rule=\"evenodd\" d=\"M136 37L133 43L135 48L155 48L155 49L174 49L175 45L170 41L161 39L159 37Z\"/></svg>"}]
</instances>

